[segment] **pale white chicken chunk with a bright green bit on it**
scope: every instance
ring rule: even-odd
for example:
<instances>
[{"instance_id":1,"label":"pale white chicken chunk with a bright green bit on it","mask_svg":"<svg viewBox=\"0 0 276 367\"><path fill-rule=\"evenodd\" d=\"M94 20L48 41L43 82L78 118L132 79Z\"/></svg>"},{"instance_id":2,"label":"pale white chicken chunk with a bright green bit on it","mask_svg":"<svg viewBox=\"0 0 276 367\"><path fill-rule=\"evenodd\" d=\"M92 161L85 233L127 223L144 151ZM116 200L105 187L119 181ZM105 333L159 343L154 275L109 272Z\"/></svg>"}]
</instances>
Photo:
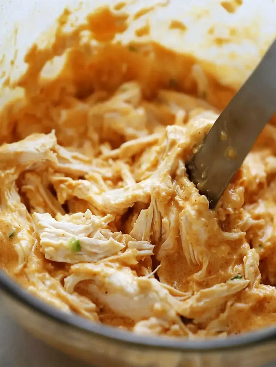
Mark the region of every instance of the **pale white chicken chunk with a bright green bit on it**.
<instances>
[{"instance_id":1,"label":"pale white chicken chunk with a bright green bit on it","mask_svg":"<svg viewBox=\"0 0 276 367\"><path fill-rule=\"evenodd\" d=\"M67 221L56 221L48 213L33 214L34 231L40 239L41 251L48 260L75 264L83 261L96 262L104 257L117 254L125 245L116 238L117 233L104 230L113 217L96 218L87 210L85 214L72 214ZM74 222L80 217L85 224ZM73 222L74 220L74 222Z\"/></svg>"}]
</instances>

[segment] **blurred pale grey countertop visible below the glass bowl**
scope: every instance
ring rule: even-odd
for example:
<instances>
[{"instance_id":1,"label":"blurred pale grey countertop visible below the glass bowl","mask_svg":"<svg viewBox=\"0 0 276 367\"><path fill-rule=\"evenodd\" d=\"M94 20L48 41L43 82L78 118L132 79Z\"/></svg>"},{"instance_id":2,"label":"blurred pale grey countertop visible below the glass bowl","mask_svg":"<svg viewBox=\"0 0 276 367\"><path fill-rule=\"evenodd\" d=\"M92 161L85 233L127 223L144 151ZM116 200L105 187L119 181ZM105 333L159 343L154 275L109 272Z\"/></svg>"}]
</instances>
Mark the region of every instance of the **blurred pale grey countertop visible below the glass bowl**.
<instances>
[{"instance_id":1,"label":"blurred pale grey countertop visible below the glass bowl","mask_svg":"<svg viewBox=\"0 0 276 367\"><path fill-rule=\"evenodd\" d=\"M91 367L45 345L0 312L0 367ZM96 367L96 366L95 366ZM237 366L238 367L238 366ZM276 367L270 363L264 367Z\"/></svg>"}]
</instances>

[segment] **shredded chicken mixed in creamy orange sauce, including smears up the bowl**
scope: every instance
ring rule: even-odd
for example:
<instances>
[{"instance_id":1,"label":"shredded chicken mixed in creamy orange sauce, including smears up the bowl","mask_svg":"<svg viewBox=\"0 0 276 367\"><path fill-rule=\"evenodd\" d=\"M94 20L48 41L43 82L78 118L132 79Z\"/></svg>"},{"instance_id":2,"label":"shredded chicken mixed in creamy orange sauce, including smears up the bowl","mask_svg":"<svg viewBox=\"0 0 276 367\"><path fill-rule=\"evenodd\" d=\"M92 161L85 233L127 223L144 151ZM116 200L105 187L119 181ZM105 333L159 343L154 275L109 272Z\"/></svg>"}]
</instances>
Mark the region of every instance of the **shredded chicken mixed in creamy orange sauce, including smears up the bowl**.
<instances>
[{"instance_id":1,"label":"shredded chicken mixed in creamy orange sauce, including smears up the bowl","mask_svg":"<svg viewBox=\"0 0 276 367\"><path fill-rule=\"evenodd\" d=\"M0 112L1 267L65 312L134 333L224 337L270 326L276 129L266 126L210 211L185 162L235 91L206 74L203 101L194 58L115 43L124 6L97 10L71 33L65 10L52 46L26 54L13 86L25 98ZM65 52L58 75L41 77Z\"/></svg>"}]
</instances>

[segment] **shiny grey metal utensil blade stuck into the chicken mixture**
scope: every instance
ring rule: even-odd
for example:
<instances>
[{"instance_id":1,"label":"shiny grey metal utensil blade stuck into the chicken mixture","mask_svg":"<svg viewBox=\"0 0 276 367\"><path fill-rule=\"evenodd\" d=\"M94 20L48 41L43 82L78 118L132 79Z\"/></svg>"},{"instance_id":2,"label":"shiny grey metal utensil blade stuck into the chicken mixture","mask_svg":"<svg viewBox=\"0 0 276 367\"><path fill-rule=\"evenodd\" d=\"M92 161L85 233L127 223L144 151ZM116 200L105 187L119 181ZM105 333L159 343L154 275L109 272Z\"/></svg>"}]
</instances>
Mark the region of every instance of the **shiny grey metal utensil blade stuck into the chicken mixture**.
<instances>
[{"instance_id":1,"label":"shiny grey metal utensil blade stuck into the chicken mixture","mask_svg":"<svg viewBox=\"0 0 276 367\"><path fill-rule=\"evenodd\" d=\"M213 209L276 112L276 41L217 118L186 164L187 173Z\"/></svg>"}]
</instances>

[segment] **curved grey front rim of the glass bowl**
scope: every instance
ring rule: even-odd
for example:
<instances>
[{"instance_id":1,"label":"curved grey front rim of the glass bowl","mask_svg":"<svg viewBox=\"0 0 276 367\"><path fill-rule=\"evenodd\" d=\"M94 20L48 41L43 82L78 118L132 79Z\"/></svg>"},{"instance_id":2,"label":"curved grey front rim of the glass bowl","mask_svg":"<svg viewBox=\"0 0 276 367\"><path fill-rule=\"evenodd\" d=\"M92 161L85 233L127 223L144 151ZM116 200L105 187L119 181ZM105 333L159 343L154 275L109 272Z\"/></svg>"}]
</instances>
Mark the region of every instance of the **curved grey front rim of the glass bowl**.
<instances>
[{"instance_id":1,"label":"curved grey front rim of the glass bowl","mask_svg":"<svg viewBox=\"0 0 276 367\"><path fill-rule=\"evenodd\" d=\"M78 332L92 334L113 343L125 346L166 349L178 352L211 352L229 349L242 349L245 347L263 344L272 341L276 337L276 326L264 328L250 333L243 333L226 339L212 338L205 340L189 340L185 338L149 337L134 334L130 331L118 330L116 327L93 323L76 314L67 314L59 309L48 305L12 280L0 270L0 290L18 301L20 304L32 309L40 316L51 321L71 327Z\"/></svg>"}]
</instances>

